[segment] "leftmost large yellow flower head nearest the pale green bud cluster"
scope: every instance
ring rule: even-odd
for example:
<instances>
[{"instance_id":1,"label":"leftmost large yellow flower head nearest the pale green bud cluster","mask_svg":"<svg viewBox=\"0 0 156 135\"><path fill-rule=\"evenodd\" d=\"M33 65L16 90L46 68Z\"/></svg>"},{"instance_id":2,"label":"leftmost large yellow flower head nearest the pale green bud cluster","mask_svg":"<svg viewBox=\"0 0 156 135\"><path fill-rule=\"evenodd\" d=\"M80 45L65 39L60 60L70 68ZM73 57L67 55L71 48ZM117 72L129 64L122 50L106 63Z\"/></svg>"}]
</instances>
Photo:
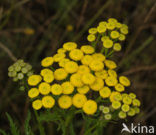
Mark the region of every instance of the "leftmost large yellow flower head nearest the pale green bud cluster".
<instances>
[{"instance_id":1,"label":"leftmost large yellow flower head nearest the pale green bud cluster","mask_svg":"<svg viewBox=\"0 0 156 135\"><path fill-rule=\"evenodd\" d=\"M42 78L40 75L31 75L28 78L28 84L30 86L36 86L39 82L41 82Z\"/></svg>"}]
</instances>

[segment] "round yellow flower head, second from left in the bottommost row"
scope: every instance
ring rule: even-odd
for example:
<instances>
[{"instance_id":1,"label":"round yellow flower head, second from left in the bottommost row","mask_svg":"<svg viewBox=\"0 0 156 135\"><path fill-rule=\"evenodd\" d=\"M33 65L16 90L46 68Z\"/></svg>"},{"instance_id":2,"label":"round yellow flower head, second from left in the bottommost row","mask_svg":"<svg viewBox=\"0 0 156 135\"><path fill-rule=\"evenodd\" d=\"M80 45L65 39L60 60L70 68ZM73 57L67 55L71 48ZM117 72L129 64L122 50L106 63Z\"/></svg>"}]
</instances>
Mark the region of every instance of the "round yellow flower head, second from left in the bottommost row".
<instances>
[{"instance_id":1,"label":"round yellow flower head, second from left in the bottommost row","mask_svg":"<svg viewBox=\"0 0 156 135\"><path fill-rule=\"evenodd\" d=\"M55 104L55 100L51 96L44 96L42 98L42 104L45 108L52 108Z\"/></svg>"}]
</instances>

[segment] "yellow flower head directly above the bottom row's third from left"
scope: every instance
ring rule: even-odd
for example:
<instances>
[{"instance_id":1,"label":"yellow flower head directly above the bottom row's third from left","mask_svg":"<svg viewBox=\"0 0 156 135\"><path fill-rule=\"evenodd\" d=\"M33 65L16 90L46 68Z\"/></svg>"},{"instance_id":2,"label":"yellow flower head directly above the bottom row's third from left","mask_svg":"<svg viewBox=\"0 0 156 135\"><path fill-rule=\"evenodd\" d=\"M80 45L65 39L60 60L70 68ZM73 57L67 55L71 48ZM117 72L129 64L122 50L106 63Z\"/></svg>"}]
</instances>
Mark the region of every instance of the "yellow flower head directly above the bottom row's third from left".
<instances>
[{"instance_id":1,"label":"yellow flower head directly above the bottom row's third from left","mask_svg":"<svg viewBox=\"0 0 156 135\"><path fill-rule=\"evenodd\" d=\"M74 91L74 86L70 82L62 83L63 94L71 94Z\"/></svg>"}]
</instances>

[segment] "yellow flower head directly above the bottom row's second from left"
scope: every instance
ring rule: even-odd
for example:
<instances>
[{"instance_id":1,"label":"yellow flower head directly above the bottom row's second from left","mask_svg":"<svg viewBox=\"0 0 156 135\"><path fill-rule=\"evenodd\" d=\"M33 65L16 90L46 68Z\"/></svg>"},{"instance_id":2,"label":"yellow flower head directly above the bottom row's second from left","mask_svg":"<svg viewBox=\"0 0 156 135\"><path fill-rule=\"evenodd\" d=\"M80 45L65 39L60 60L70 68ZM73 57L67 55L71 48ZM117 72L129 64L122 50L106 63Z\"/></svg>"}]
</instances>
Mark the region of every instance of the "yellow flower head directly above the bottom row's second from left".
<instances>
[{"instance_id":1,"label":"yellow flower head directly above the bottom row's second from left","mask_svg":"<svg viewBox=\"0 0 156 135\"><path fill-rule=\"evenodd\" d=\"M40 83L38 90L42 95L47 95L50 92L50 85L46 82L42 82Z\"/></svg>"}]
</instances>

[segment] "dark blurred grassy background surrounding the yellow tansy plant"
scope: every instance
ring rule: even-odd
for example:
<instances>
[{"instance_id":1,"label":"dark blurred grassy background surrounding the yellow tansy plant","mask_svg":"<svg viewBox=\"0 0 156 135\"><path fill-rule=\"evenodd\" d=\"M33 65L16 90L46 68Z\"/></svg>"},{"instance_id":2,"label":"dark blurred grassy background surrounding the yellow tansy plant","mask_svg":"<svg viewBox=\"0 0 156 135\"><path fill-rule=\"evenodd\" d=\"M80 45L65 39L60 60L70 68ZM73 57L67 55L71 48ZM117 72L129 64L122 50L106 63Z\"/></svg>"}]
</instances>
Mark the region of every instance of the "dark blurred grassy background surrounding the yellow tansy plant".
<instances>
[{"instance_id":1,"label":"dark blurred grassy background surrounding the yellow tansy plant","mask_svg":"<svg viewBox=\"0 0 156 135\"><path fill-rule=\"evenodd\" d=\"M9 130L8 112L23 133L27 112L32 111L27 95L8 77L7 68L14 60L24 59L37 72L41 59L56 53L64 42L88 44L88 28L110 17L129 26L122 51L114 60L119 63L118 72L132 81L127 91L136 93L142 102L141 113L126 123L156 125L155 0L0 0L1 129ZM110 123L106 135L120 134L122 122ZM33 120L31 127L36 131ZM47 135L56 133L55 125L45 127Z\"/></svg>"}]
</instances>

